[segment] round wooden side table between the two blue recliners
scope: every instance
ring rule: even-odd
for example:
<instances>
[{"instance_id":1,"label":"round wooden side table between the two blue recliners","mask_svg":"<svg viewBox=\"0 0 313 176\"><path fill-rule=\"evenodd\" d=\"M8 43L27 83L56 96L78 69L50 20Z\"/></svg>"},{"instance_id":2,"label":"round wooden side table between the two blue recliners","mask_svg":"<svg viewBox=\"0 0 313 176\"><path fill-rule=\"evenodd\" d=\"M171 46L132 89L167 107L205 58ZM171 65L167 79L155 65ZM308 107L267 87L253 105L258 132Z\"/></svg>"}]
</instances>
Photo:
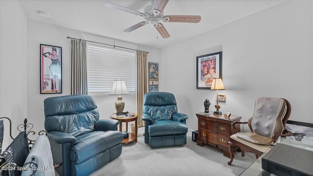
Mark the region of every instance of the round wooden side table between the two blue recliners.
<instances>
[{"instance_id":1,"label":"round wooden side table between the two blue recliners","mask_svg":"<svg viewBox=\"0 0 313 176\"><path fill-rule=\"evenodd\" d=\"M136 113L133 113L134 116L130 116L130 117L120 117L120 116L116 116L116 113L111 114L110 118L112 119L116 119L119 121L119 131L122 132L122 127L123 127L123 122L126 123L126 131L128 131L128 122L131 121L135 121L135 134L128 132L128 138L124 138L124 140L122 141L123 144L127 144L130 142L137 142L137 132L138 132L138 125L137 125L137 120L138 120L138 115Z\"/></svg>"}]
</instances>

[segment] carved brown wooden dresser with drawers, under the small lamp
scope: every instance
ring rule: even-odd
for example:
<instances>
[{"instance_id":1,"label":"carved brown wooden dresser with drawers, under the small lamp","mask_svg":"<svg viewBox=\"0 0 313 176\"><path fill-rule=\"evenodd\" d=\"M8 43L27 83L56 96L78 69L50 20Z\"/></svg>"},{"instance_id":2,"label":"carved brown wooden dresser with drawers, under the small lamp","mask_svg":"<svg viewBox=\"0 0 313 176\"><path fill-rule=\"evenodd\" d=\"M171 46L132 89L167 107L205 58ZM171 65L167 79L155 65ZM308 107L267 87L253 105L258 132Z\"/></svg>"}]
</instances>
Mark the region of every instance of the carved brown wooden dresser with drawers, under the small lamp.
<instances>
[{"instance_id":1,"label":"carved brown wooden dresser with drawers, under the small lamp","mask_svg":"<svg viewBox=\"0 0 313 176\"><path fill-rule=\"evenodd\" d=\"M216 146L223 151L224 156L230 157L227 142L229 137L235 133L231 124L240 121L241 117L231 115L230 118L225 118L224 114L217 116L212 113L204 114L204 112L198 113L196 116L198 117L197 145L201 147L203 147L203 144ZM240 124L236 128L240 131ZM233 148L233 150L236 149L238 149L237 146Z\"/></svg>"}]
</instances>

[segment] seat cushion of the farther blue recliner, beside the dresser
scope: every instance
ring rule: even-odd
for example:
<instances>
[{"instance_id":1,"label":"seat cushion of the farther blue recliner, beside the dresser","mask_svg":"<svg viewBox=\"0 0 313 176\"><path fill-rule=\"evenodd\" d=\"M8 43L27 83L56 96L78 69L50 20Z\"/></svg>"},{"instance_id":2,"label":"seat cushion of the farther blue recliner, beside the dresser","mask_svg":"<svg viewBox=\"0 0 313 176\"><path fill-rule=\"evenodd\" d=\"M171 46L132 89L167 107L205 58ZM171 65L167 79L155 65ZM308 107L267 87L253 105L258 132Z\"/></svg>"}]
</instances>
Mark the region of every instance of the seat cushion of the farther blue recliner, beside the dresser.
<instances>
[{"instance_id":1,"label":"seat cushion of the farther blue recliner, beside the dresser","mask_svg":"<svg viewBox=\"0 0 313 176\"><path fill-rule=\"evenodd\" d=\"M186 134L186 124L172 120L158 120L148 126L149 137Z\"/></svg>"}]
</instances>

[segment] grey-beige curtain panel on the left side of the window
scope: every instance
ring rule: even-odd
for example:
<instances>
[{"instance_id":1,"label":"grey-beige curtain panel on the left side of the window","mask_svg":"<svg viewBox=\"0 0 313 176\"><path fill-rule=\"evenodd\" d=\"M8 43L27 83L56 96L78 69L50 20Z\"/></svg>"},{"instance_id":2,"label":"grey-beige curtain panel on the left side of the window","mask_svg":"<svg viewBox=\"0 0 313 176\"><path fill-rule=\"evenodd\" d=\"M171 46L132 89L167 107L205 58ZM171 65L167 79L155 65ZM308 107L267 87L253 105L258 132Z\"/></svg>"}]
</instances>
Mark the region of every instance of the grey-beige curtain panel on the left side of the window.
<instances>
[{"instance_id":1,"label":"grey-beige curtain panel on the left side of the window","mask_svg":"<svg viewBox=\"0 0 313 176\"><path fill-rule=\"evenodd\" d=\"M71 39L70 43L70 95L87 94L86 41Z\"/></svg>"}]
</instances>

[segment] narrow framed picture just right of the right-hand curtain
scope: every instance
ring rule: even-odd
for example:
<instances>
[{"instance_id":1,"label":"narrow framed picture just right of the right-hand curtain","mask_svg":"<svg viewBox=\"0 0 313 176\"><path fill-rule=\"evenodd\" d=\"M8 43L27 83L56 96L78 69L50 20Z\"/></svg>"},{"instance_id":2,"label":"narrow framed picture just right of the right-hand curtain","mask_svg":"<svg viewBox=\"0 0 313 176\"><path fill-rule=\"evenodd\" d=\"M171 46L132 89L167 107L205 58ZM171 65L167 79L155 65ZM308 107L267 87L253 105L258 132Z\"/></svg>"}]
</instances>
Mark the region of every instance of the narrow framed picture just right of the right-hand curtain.
<instances>
[{"instance_id":1,"label":"narrow framed picture just right of the right-hand curtain","mask_svg":"<svg viewBox=\"0 0 313 176\"><path fill-rule=\"evenodd\" d=\"M158 63L149 62L149 92L158 92Z\"/></svg>"}]
</instances>

